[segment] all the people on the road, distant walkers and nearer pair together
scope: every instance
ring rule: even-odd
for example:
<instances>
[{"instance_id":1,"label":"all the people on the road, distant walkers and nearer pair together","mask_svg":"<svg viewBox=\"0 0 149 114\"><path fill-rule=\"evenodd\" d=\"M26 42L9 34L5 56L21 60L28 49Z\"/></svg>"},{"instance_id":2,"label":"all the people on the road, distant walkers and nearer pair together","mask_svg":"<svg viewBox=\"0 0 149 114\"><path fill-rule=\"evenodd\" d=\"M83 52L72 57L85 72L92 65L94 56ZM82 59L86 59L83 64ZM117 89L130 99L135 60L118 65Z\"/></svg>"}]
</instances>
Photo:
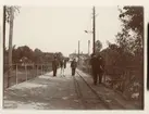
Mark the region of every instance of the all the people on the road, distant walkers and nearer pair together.
<instances>
[{"instance_id":1,"label":"all the people on the road, distant walkers and nearer pair together","mask_svg":"<svg viewBox=\"0 0 149 114\"><path fill-rule=\"evenodd\" d=\"M59 65L61 67L61 76L65 76L64 69L66 68L66 60L61 59L58 61L55 56L54 56L54 60L52 61L53 76L57 76L57 69L58 69ZM102 75L104 73L103 58L97 53L91 54L90 65L91 65L91 72L92 72L92 77L94 77L94 84L97 85L97 81L98 81L98 84L101 84ZM75 75L76 67L77 67L77 62L74 59L71 62L72 76Z\"/></svg>"}]
</instances>

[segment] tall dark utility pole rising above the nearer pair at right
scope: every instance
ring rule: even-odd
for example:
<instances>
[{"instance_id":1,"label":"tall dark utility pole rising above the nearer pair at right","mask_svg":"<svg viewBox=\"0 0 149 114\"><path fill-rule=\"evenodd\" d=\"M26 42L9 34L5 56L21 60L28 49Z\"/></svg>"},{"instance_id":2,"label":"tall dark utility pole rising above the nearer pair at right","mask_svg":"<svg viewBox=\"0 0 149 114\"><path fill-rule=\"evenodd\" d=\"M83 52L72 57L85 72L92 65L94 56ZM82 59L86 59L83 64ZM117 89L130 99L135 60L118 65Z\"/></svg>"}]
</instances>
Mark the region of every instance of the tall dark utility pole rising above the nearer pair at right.
<instances>
[{"instance_id":1,"label":"tall dark utility pole rising above the nearer pair at right","mask_svg":"<svg viewBox=\"0 0 149 114\"><path fill-rule=\"evenodd\" d=\"M92 52L95 53L95 51L96 51L96 47L95 47L95 43L96 43L96 10L95 10L95 7L94 7L94 9L92 9L92 11L94 11L94 20L92 20L92 38L94 38L94 40L92 40Z\"/></svg>"}]
</instances>

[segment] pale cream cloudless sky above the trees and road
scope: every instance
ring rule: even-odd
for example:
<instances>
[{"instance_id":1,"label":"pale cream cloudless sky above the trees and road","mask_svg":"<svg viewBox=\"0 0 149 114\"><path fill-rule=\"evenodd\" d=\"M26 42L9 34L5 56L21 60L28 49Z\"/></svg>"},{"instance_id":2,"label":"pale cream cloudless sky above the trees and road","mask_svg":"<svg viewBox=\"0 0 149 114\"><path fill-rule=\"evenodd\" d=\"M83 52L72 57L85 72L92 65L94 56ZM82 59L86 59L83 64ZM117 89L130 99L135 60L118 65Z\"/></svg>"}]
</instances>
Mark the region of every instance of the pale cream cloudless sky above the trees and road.
<instances>
[{"instance_id":1,"label":"pale cream cloudless sky above the trees and road","mask_svg":"<svg viewBox=\"0 0 149 114\"><path fill-rule=\"evenodd\" d=\"M117 7L96 7L96 40L107 48L107 40L114 42L121 29ZM69 55L77 52L78 40L80 52L92 51L91 7L22 7L14 20L13 45L27 45L33 50L38 48L45 52L62 52ZM7 46L9 26L7 24Z\"/></svg>"}]
</instances>

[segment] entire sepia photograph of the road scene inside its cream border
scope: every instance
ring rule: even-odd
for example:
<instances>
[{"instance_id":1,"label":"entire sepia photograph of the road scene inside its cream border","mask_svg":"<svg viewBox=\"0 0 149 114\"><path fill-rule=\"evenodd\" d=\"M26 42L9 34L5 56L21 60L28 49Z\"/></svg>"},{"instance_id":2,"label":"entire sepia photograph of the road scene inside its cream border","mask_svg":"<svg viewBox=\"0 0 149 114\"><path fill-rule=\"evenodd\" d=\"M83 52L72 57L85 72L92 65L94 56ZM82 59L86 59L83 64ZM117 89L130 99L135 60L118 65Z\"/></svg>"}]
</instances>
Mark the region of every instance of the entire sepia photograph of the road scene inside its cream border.
<instances>
[{"instance_id":1,"label":"entire sepia photograph of the road scene inside its cream border","mask_svg":"<svg viewBox=\"0 0 149 114\"><path fill-rule=\"evenodd\" d=\"M2 11L3 110L145 109L144 7Z\"/></svg>"}]
</instances>

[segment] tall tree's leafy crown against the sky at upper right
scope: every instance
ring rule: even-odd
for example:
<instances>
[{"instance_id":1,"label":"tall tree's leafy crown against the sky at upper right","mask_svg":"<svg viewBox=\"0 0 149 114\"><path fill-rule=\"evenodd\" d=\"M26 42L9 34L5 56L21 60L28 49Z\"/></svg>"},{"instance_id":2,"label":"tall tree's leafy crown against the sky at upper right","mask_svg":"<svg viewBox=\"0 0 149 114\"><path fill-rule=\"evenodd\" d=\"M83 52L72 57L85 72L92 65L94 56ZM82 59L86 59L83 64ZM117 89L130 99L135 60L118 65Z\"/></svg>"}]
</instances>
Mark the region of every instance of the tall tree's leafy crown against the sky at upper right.
<instances>
[{"instance_id":1,"label":"tall tree's leafy crown against the sky at upper right","mask_svg":"<svg viewBox=\"0 0 149 114\"><path fill-rule=\"evenodd\" d=\"M123 29L117 34L117 41L128 43L134 53L142 52L144 45L144 9L142 7L124 7L119 9ZM135 34L131 35L131 31ZM127 38L127 40L126 40ZM131 38L131 39L128 39ZM121 46L124 43L120 43Z\"/></svg>"}]
</instances>

